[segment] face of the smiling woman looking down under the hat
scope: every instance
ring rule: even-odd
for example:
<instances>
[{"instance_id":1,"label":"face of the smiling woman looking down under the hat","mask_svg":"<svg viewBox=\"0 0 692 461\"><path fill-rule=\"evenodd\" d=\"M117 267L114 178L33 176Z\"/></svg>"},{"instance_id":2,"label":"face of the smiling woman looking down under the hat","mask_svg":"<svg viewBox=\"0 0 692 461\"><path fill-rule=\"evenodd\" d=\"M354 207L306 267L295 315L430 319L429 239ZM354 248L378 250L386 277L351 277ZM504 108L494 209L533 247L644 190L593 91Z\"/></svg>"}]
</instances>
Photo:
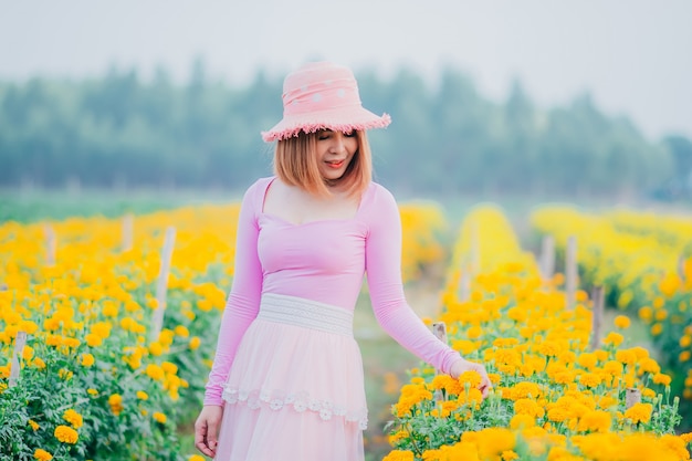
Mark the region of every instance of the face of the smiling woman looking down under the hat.
<instances>
[{"instance_id":1,"label":"face of the smiling woman looking down under the hat","mask_svg":"<svg viewBox=\"0 0 692 461\"><path fill-rule=\"evenodd\" d=\"M317 132L316 139L319 174L328 181L342 178L358 150L356 132L344 134L323 129Z\"/></svg>"}]
</instances>

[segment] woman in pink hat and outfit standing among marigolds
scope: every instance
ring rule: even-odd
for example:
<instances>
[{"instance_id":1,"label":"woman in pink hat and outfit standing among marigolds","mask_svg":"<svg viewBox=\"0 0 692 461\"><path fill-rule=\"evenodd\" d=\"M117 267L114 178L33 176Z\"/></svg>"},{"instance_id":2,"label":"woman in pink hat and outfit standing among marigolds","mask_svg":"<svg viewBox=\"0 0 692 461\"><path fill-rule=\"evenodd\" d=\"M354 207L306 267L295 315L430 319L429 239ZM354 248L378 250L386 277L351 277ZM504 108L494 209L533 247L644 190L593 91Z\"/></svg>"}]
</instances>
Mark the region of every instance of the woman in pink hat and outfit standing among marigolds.
<instances>
[{"instance_id":1,"label":"woman in pink hat and outfit standing among marigolds","mask_svg":"<svg viewBox=\"0 0 692 461\"><path fill-rule=\"evenodd\" d=\"M328 62L286 76L275 176L245 192L235 276L196 422L196 446L219 461L364 460L361 356L353 337L367 275L373 310L403 347L453 377L485 368L437 339L401 283L401 224L371 181L366 130L387 114L363 108L353 73Z\"/></svg>"}]
</instances>

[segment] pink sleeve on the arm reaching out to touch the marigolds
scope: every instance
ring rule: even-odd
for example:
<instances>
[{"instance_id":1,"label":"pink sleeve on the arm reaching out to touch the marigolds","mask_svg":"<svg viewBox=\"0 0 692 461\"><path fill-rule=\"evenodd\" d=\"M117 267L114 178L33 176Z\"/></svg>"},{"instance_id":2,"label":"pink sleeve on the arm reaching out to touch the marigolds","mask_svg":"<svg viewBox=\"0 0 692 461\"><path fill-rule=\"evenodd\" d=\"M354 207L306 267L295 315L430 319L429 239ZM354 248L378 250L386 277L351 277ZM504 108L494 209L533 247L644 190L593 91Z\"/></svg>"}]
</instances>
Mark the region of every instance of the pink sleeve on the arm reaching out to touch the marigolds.
<instances>
[{"instance_id":1,"label":"pink sleeve on the arm reaching out to touch the marigolds","mask_svg":"<svg viewBox=\"0 0 692 461\"><path fill-rule=\"evenodd\" d=\"M366 273L370 301L380 326L422 360L449 373L461 358L438 339L408 305L401 282L401 218L391 193L381 188L374 197L366 241Z\"/></svg>"}]
</instances>

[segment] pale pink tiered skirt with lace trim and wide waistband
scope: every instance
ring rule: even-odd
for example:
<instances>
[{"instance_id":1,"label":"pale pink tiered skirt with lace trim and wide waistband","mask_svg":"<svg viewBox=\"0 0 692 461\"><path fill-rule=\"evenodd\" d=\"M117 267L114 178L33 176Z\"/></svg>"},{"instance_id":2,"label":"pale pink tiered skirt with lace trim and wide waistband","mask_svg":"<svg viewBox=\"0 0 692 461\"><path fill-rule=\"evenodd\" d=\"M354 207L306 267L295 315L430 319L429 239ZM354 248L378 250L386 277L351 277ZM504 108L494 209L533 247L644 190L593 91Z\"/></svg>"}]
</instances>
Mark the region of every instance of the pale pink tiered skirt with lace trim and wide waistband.
<instances>
[{"instance_id":1,"label":"pale pink tiered skirt with lace trim and wide waistband","mask_svg":"<svg viewBox=\"0 0 692 461\"><path fill-rule=\"evenodd\" d=\"M264 294L223 400L217 461L363 461L367 405L353 312Z\"/></svg>"}]
</instances>

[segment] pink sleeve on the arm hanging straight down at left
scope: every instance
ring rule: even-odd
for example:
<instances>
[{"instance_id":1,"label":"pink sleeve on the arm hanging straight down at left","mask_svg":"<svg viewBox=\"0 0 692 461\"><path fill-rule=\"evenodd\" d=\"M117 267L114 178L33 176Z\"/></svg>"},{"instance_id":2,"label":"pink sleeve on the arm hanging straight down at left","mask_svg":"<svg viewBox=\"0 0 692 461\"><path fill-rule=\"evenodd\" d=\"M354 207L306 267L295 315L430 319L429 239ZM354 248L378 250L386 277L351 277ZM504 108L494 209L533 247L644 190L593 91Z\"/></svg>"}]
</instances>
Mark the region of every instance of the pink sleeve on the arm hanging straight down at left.
<instances>
[{"instance_id":1,"label":"pink sleeve on the arm hanging straight down at left","mask_svg":"<svg viewBox=\"0 0 692 461\"><path fill-rule=\"evenodd\" d=\"M245 192L235 242L235 265L231 291L223 310L217 353L206 386L205 405L222 405L222 385L226 383L238 345L250 323L258 316L262 295L262 266L258 256L259 227L256 212L259 181Z\"/></svg>"}]
</instances>

